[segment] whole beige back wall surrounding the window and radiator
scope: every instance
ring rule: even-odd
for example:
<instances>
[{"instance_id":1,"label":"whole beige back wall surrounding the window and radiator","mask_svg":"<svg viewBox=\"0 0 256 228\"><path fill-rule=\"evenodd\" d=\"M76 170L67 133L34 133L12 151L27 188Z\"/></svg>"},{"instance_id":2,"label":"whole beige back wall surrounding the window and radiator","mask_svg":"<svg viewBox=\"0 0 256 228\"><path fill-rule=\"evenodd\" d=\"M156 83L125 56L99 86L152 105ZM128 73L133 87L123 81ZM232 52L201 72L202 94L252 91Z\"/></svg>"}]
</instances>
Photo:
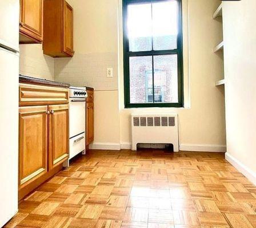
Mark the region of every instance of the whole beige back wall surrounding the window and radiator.
<instances>
[{"instance_id":1,"label":"whole beige back wall surrounding the window and radiator","mask_svg":"<svg viewBox=\"0 0 256 228\"><path fill-rule=\"evenodd\" d=\"M224 96L223 89L214 85L221 78L222 64L213 53L222 28L212 19L219 1L188 0L187 6L183 0L186 108L182 109L123 109L121 2L69 0L74 7L75 55L54 60L55 80L96 89L95 145L130 144L130 113L167 112L179 114L183 149L223 150ZM114 78L106 78L106 67L113 67Z\"/></svg>"}]
</instances>

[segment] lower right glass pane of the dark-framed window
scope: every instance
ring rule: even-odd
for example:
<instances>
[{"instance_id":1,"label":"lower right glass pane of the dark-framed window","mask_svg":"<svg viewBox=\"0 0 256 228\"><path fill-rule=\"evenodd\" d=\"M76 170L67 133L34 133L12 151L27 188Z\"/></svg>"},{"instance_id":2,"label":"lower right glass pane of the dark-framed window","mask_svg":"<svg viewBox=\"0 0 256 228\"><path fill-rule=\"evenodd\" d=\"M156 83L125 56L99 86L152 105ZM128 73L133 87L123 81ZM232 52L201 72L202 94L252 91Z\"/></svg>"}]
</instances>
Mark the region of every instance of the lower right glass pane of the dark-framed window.
<instances>
[{"instance_id":1,"label":"lower right glass pane of the dark-framed window","mask_svg":"<svg viewBox=\"0 0 256 228\"><path fill-rule=\"evenodd\" d=\"M155 103L178 103L177 55L154 56Z\"/></svg>"}]
</instances>

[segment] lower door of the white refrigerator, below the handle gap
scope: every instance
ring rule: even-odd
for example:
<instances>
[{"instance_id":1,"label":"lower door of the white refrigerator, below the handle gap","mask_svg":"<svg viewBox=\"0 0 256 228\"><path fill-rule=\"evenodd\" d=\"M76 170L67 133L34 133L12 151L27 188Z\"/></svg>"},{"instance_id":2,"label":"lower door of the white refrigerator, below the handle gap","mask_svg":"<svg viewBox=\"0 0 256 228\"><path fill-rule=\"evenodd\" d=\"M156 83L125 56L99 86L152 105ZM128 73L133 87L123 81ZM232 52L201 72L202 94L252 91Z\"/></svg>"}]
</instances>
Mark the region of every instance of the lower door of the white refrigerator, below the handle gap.
<instances>
[{"instance_id":1,"label":"lower door of the white refrigerator, below the handle gap","mask_svg":"<svg viewBox=\"0 0 256 228\"><path fill-rule=\"evenodd\" d=\"M0 72L0 227L2 227L18 211L18 54L0 48Z\"/></svg>"}]
</instances>

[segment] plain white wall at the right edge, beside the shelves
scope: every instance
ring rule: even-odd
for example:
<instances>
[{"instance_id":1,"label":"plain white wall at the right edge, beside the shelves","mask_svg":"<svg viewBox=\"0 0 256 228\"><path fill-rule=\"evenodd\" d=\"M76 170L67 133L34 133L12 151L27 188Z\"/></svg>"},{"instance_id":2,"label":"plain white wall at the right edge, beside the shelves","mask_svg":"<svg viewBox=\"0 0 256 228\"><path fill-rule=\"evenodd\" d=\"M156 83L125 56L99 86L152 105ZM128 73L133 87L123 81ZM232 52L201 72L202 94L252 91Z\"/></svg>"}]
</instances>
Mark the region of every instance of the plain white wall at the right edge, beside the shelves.
<instances>
[{"instance_id":1,"label":"plain white wall at the right edge, beside the shelves","mask_svg":"<svg viewBox=\"0 0 256 228\"><path fill-rule=\"evenodd\" d=\"M227 156L256 183L256 1L223 7Z\"/></svg>"}]
</instances>

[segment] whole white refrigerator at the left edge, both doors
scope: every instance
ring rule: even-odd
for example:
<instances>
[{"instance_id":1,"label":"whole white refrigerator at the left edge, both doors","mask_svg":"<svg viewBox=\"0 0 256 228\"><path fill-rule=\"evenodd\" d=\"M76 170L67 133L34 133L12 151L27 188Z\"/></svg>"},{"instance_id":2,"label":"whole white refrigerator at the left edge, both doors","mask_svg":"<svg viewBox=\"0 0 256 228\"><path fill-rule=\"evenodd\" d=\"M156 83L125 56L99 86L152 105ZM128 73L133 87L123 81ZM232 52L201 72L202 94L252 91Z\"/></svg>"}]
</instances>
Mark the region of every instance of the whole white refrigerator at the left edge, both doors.
<instances>
[{"instance_id":1,"label":"whole white refrigerator at the left edge, both doors","mask_svg":"<svg viewBox=\"0 0 256 228\"><path fill-rule=\"evenodd\" d=\"M0 227L18 212L19 0L0 0Z\"/></svg>"}]
</instances>

